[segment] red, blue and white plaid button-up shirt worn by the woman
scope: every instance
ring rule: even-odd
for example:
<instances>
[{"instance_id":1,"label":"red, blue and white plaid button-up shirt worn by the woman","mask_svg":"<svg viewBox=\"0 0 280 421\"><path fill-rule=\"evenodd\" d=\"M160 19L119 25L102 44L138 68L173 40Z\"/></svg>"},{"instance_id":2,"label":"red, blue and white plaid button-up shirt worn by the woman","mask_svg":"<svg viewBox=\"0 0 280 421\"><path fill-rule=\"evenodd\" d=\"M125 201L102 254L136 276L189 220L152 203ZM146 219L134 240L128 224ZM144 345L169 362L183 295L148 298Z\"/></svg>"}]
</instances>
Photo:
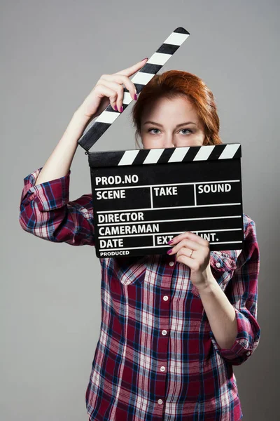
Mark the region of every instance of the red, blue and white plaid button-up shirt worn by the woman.
<instances>
[{"instance_id":1,"label":"red, blue and white plaid button-up shirt worn by the woman","mask_svg":"<svg viewBox=\"0 0 280 421\"><path fill-rule=\"evenodd\" d=\"M69 201L69 173L24 179L20 225L42 239L94 246L92 195ZM230 349L216 342L190 269L176 255L101 258L102 323L85 393L89 420L238 421L232 366L260 340L259 248L244 214L244 248L211 251L211 270L237 315Z\"/></svg>"}]
</instances>

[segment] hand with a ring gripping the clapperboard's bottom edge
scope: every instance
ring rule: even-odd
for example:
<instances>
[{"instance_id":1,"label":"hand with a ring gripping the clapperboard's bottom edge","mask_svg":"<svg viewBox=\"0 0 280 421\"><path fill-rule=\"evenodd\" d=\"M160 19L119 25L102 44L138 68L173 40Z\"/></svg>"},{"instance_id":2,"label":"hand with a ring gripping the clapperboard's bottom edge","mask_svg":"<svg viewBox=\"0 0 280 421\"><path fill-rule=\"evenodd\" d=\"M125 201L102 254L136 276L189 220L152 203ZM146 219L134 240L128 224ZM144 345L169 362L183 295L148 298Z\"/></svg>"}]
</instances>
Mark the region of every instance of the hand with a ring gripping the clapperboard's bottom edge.
<instances>
[{"instance_id":1,"label":"hand with a ring gripping the clapperboard's bottom edge","mask_svg":"<svg viewBox=\"0 0 280 421\"><path fill-rule=\"evenodd\" d=\"M168 254L176 253L177 262L182 262L190 267L190 281L193 285L197 288L207 286L207 283L213 278L210 267L209 241L193 232L183 232L169 241L169 244L173 248Z\"/></svg>"}]
</instances>

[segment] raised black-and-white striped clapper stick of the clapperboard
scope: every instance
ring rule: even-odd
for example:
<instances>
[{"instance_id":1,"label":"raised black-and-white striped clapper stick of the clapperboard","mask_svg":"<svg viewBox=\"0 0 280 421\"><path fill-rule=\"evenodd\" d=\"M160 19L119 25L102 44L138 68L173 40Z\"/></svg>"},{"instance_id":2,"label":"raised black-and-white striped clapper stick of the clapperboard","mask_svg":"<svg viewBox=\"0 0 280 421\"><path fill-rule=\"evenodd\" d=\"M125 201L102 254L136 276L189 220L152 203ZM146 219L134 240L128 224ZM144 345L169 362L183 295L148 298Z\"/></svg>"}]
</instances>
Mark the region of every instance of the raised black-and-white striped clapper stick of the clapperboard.
<instances>
[{"instance_id":1,"label":"raised black-and-white striped clapper stick of the clapperboard","mask_svg":"<svg viewBox=\"0 0 280 421\"><path fill-rule=\"evenodd\" d=\"M135 74L131 81L134 83L137 93L140 93L144 86L153 79L153 76L157 74L163 65L172 57L175 51L183 44L188 38L190 33L183 27L176 28L172 34L165 39L164 43L158 48L157 51L149 58L146 64ZM127 88L124 88L123 96L123 109L130 105L132 98ZM120 113L113 109L111 105L108 105L106 109L97 117L96 120L92 121L83 135L78 140L78 144L83 147L87 152L91 152L91 148L99 138L106 132L106 130L113 124Z\"/></svg>"}]
</instances>

